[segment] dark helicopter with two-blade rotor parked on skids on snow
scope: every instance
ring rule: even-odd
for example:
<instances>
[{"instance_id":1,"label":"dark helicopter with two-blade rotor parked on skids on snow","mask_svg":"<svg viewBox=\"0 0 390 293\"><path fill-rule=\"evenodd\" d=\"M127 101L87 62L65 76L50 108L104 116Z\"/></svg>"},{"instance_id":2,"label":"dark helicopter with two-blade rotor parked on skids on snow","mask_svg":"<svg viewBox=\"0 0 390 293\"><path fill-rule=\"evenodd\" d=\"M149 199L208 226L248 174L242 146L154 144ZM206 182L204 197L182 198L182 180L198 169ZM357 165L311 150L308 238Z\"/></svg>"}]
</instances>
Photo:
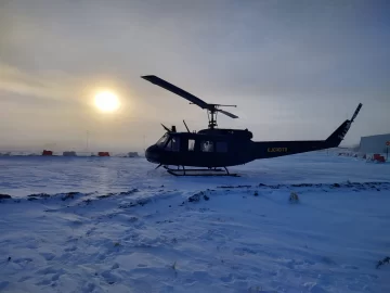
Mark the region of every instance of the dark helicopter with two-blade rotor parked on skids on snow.
<instances>
[{"instance_id":1,"label":"dark helicopter with two-blade rotor parked on skids on snow","mask_svg":"<svg viewBox=\"0 0 390 293\"><path fill-rule=\"evenodd\" d=\"M168 128L161 124L166 130L165 135L145 150L146 160L158 164L156 169L164 166L169 174L174 176L238 176L230 173L227 167L244 165L255 160L336 148L343 140L362 107L362 103L360 103L352 118L344 120L325 140L252 141L252 132L248 129L218 128L217 115L219 113L234 119L238 118L238 116L221 110L221 107L236 107L236 105L206 103L155 75L141 77L184 98L190 101L190 104L195 104L207 111L209 120L207 129L190 131L185 120L183 120L187 131L178 132L176 126ZM177 168L169 166L177 166Z\"/></svg>"}]
</instances>

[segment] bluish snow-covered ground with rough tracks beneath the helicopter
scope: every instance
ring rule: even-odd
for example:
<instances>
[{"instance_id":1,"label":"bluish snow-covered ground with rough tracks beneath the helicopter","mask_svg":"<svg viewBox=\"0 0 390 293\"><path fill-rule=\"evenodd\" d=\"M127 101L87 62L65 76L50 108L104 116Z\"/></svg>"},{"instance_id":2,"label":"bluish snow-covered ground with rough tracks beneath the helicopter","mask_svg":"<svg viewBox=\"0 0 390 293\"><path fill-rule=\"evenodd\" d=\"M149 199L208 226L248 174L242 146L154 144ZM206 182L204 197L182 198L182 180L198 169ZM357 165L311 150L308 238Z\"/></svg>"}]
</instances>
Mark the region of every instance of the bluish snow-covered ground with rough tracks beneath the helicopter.
<instances>
[{"instance_id":1,"label":"bluish snow-covered ground with rough tracks beneath the helicopter","mask_svg":"<svg viewBox=\"0 0 390 293\"><path fill-rule=\"evenodd\" d=\"M154 167L1 157L0 292L390 292L390 264L376 268L390 164L321 152L237 178Z\"/></svg>"}]
</instances>

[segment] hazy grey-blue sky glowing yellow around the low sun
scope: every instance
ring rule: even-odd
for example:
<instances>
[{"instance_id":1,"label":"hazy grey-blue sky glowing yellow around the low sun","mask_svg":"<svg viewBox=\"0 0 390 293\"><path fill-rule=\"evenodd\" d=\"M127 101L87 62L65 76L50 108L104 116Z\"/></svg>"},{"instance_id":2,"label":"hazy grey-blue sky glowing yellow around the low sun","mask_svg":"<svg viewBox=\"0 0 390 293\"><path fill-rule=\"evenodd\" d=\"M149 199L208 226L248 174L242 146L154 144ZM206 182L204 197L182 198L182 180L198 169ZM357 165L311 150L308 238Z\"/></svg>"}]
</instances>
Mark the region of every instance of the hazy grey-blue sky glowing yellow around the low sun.
<instances>
[{"instance_id":1,"label":"hazy grey-blue sky glowing yellow around the low sun","mask_svg":"<svg viewBox=\"0 0 390 293\"><path fill-rule=\"evenodd\" d=\"M154 74L239 119L253 140L325 139L363 109L344 143L390 132L390 4L359 0L0 0L0 149L140 150L159 123L206 112ZM92 104L115 91L119 112Z\"/></svg>"}]
</instances>

